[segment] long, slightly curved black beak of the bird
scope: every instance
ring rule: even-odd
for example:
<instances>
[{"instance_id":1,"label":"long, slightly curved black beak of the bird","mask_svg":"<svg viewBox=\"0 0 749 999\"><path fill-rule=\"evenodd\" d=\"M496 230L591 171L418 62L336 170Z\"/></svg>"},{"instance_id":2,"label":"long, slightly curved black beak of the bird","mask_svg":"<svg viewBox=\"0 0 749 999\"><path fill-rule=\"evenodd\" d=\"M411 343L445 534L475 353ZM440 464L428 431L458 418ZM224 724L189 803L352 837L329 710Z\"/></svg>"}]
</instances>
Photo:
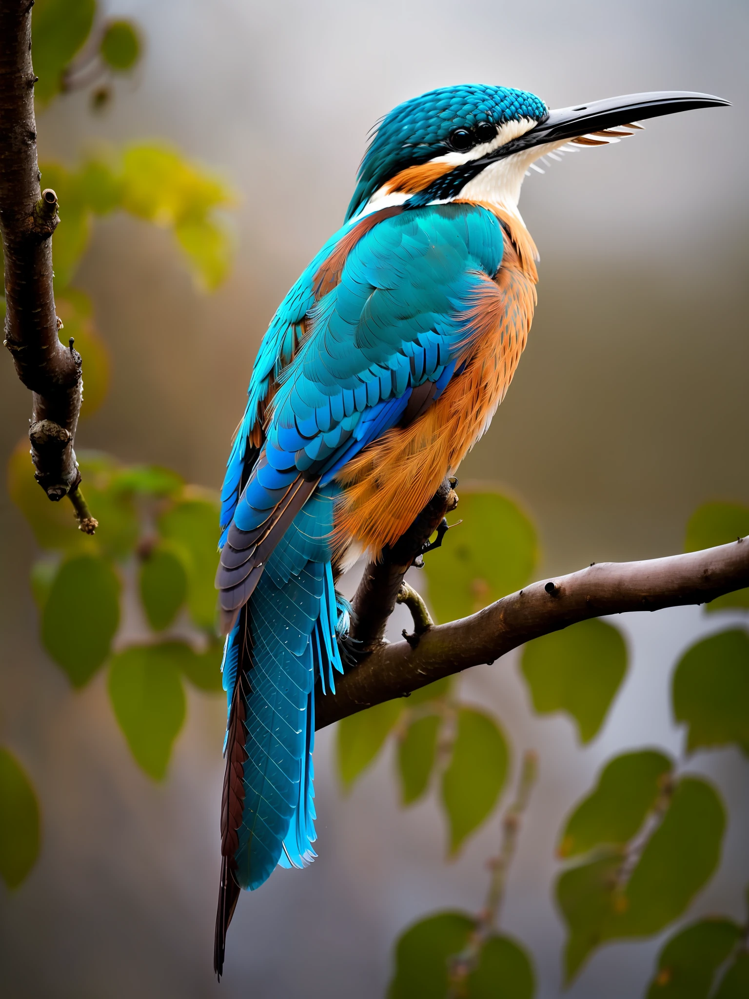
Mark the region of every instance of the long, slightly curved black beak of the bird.
<instances>
[{"instance_id":1,"label":"long, slightly curved black beak of the bird","mask_svg":"<svg viewBox=\"0 0 749 999\"><path fill-rule=\"evenodd\" d=\"M500 146L496 152L502 157L509 156L533 146L577 139L584 135L605 132L607 129L642 121L645 118L673 115L677 111L694 111L695 108L720 107L730 107L730 101L713 97L711 94L693 94L684 90L609 97L605 101L593 101L590 104L578 104L574 108L549 111L547 117L535 128Z\"/></svg>"}]
</instances>

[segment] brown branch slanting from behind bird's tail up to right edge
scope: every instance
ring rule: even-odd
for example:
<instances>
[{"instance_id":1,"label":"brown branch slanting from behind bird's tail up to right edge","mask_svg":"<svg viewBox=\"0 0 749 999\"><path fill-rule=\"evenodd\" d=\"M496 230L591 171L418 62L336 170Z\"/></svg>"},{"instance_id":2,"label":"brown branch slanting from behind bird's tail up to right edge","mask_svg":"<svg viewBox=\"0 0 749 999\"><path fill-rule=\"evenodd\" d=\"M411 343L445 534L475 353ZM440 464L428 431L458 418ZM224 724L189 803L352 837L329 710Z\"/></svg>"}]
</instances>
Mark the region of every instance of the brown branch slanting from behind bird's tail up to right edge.
<instances>
[{"instance_id":1,"label":"brown branch slanting from behind bird's tail up to right edge","mask_svg":"<svg viewBox=\"0 0 749 999\"><path fill-rule=\"evenodd\" d=\"M568 624L631 610L706 603L749 585L749 536L730 544L649 561L599 562L534 582L470 617L435 624L415 648L383 644L316 699L318 728L480 662Z\"/></svg>"}]
</instances>

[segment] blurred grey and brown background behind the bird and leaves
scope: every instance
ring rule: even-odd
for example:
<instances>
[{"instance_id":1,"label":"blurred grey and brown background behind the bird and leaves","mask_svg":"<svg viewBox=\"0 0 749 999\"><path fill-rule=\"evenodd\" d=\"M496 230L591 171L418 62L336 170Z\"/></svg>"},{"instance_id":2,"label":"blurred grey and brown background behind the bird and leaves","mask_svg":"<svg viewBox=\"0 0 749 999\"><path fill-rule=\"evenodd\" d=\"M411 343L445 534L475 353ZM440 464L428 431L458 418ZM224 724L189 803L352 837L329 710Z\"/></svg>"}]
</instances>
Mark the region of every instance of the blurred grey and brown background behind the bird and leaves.
<instances>
[{"instance_id":1,"label":"blurred grey and brown background behind the bird and leaves","mask_svg":"<svg viewBox=\"0 0 749 999\"><path fill-rule=\"evenodd\" d=\"M38 121L41 155L72 164L89 143L166 137L225 176L242 204L233 276L210 298L196 294L167 234L122 217L97 224L75 284L94 300L114 379L80 447L220 486L266 326L340 225L368 130L399 101L470 81L526 88L550 107L688 89L734 107L648 122L632 139L526 180L520 209L541 254L539 305L509 395L462 475L521 500L539 527L544 573L680 550L697 504L749 501L745 3L107 7L148 37L138 85L120 86L104 117L80 95L58 103ZM6 356L3 460L29 412ZM433 801L400 811L389 757L343 798L334 733L324 731L320 859L242 897L217 986L221 698L191 694L169 779L154 785L129 756L104 676L73 693L40 649L26 581L31 532L4 494L0 507L0 739L34 780L44 820L39 864L18 892L0 893L3 995L375 999L408 922L438 907L479 907L496 820L445 864ZM619 619L632 665L584 749L567 720L530 713L514 655L464 678L465 696L499 713L517 756L540 752L502 918L533 953L539 999L561 993L563 929L549 888L563 816L612 753L681 750L671 668L696 635L731 619L740 618L696 609ZM741 916L746 762L712 752L688 767L714 776L732 816L720 871L688 915ZM658 946L604 948L569 996L640 995Z\"/></svg>"}]
</instances>

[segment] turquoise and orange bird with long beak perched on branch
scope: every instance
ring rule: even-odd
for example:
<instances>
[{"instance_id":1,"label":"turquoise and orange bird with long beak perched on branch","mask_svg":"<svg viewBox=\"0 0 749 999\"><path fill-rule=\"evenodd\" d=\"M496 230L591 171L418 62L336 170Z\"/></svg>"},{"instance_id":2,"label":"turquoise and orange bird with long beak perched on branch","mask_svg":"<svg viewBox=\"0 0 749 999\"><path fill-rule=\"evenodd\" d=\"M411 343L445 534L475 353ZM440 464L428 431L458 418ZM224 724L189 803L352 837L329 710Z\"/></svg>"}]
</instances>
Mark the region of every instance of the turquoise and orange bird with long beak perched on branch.
<instances>
[{"instance_id":1,"label":"turquoise and orange bird with long beak perched on branch","mask_svg":"<svg viewBox=\"0 0 749 999\"><path fill-rule=\"evenodd\" d=\"M335 696L352 654L339 577L380 556L454 474L525 347L538 254L523 178L645 119L728 103L667 91L550 111L527 91L468 84L375 126L344 225L265 334L222 490L219 978L240 890L316 856L315 694Z\"/></svg>"}]
</instances>

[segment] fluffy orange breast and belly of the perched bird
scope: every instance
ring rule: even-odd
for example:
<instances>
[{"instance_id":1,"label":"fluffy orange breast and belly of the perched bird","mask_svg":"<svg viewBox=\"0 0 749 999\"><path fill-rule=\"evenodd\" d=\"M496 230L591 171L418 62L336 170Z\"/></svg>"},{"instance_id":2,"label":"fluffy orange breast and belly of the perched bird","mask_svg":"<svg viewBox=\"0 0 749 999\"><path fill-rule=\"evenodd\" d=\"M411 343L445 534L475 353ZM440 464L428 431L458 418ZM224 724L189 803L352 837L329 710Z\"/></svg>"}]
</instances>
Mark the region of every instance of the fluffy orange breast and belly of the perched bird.
<instances>
[{"instance_id":1,"label":"fluffy orange breast and belly of the perched bird","mask_svg":"<svg viewBox=\"0 0 749 999\"><path fill-rule=\"evenodd\" d=\"M393 544L453 473L491 421L512 381L535 306L535 247L517 220L489 205L510 239L494 281L484 278L471 304L477 336L439 399L405 428L392 428L337 476L345 488L336 512L337 546L359 541L371 557Z\"/></svg>"}]
</instances>

